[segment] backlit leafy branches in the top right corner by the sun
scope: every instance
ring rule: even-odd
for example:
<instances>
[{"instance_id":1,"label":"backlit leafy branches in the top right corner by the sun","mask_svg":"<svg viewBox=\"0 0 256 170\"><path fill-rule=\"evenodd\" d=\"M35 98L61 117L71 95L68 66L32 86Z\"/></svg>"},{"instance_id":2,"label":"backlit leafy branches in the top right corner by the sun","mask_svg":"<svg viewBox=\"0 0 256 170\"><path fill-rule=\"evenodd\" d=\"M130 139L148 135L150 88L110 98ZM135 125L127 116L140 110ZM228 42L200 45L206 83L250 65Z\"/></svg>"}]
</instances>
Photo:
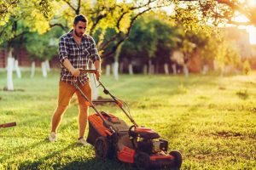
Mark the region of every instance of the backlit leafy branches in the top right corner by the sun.
<instances>
[{"instance_id":1,"label":"backlit leafy branches in the top right corner by the sun","mask_svg":"<svg viewBox=\"0 0 256 170\"><path fill-rule=\"evenodd\" d=\"M187 4L189 8L195 8L201 21L211 22L213 26L218 26L220 23L256 26L256 4L250 4L247 0L183 0L180 2ZM236 21L238 15L244 15L248 20Z\"/></svg>"}]
</instances>

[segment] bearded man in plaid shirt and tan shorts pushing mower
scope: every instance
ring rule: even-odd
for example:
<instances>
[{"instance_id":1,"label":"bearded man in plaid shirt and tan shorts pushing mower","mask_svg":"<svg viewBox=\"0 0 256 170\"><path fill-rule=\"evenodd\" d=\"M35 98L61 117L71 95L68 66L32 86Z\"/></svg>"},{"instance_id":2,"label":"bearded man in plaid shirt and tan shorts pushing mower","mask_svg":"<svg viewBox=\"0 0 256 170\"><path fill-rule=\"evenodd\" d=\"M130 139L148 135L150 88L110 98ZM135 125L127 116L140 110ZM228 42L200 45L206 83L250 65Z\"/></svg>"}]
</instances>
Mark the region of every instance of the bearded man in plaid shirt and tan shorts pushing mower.
<instances>
[{"instance_id":1,"label":"bearded man in plaid shirt and tan shorts pushing mower","mask_svg":"<svg viewBox=\"0 0 256 170\"><path fill-rule=\"evenodd\" d=\"M85 35L88 20L79 14L74 18L73 30L61 36L59 43L59 59L61 62L61 77L59 82L58 106L52 116L49 141L57 140L57 128L61 117L69 105L70 99L76 93L79 99L79 139L80 144L87 144L84 131L87 123L89 106L79 91L73 86L73 78L77 79L79 88L91 100L91 89L87 74L81 73L80 68L87 68L91 59L96 67L97 80L101 76L101 59L97 53L96 44L92 37Z\"/></svg>"}]
</instances>

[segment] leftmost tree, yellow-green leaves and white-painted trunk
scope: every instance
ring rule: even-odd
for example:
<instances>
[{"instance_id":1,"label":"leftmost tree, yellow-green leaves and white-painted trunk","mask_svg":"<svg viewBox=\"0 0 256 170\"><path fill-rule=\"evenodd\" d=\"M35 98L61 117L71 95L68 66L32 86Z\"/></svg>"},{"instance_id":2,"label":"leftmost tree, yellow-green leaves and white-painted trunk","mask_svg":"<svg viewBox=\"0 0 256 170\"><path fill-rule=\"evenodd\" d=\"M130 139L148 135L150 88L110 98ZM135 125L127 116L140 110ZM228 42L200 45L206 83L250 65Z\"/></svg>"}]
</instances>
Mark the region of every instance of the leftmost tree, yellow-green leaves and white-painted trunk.
<instances>
[{"instance_id":1,"label":"leftmost tree, yellow-green leaves and white-painted trunk","mask_svg":"<svg viewBox=\"0 0 256 170\"><path fill-rule=\"evenodd\" d=\"M13 51L15 42L19 42L29 31L44 33L49 29L47 22L48 1L10 0L0 3L0 44L5 43L8 57L7 89L14 90L12 82Z\"/></svg>"}]
</instances>

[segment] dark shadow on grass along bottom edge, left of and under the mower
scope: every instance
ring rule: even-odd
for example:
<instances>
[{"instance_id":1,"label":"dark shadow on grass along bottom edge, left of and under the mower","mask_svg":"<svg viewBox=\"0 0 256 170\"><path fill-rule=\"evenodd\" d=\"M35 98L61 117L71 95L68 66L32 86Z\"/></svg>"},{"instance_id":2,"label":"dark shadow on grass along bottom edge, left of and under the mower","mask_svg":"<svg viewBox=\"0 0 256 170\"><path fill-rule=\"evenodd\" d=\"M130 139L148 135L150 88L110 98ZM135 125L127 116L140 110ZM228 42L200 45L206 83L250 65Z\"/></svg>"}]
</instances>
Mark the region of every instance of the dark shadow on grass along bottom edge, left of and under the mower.
<instances>
[{"instance_id":1,"label":"dark shadow on grass along bottom edge, left of and under the mower","mask_svg":"<svg viewBox=\"0 0 256 170\"><path fill-rule=\"evenodd\" d=\"M63 155L68 150L81 147L79 144L70 144L66 148L49 153L37 161L23 161L20 163L19 169L90 169L90 170L135 170L133 165L125 164L117 159L99 160L95 157L67 157ZM82 148L81 148L82 149ZM77 153L79 154L79 153ZM67 161L63 161L66 159Z\"/></svg>"}]
</instances>

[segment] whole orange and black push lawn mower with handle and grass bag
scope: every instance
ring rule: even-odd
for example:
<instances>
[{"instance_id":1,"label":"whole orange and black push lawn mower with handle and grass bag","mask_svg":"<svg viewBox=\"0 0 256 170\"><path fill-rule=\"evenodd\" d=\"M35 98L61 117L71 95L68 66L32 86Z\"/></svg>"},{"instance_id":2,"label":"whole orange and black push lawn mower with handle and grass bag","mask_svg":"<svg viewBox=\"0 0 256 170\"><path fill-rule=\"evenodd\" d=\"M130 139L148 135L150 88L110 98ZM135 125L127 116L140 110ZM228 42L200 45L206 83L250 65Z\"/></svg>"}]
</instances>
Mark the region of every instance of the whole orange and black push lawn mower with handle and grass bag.
<instances>
[{"instance_id":1,"label":"whole orange and black push lawn mower with handle and grass bag","mask_svg":"<svg viewBox=\"0 0 256 170\"><path fill-rule=\"evenodd\" d=\"M86 73L96 73L95 70L81 70ZM111 113L98 111L94 102L90 101L73 81L75 88L86 99L88 105L96 111L88 116L89 133L87 142L95 148L96 158L117 157L119 161L135 164L138 169L179 169L182 156L179 151L167 153L168 141L160 139L160 135L149 127L138 126L132 119L130 111L125 109L125 102L110 94L102 82L98 80L98 87L103 88L104 94L109 95L119 108L130 119L132 126ZM106 102L106 101L104 101Z\"/></svg>"}]
</instances>

